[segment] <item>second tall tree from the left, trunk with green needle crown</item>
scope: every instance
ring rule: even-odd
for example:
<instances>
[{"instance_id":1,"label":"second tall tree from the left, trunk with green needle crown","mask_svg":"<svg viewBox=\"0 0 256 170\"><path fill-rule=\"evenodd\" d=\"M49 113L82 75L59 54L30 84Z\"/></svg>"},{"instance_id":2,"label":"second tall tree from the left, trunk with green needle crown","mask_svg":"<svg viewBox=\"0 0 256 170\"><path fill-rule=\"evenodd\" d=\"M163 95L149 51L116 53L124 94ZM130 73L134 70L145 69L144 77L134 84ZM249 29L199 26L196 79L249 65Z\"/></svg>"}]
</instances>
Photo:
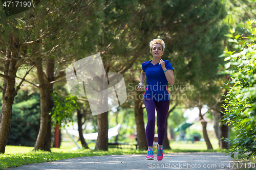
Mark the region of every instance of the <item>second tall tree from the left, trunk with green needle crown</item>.
<instances>
[{"instance_id":1,"label":"second tall tree from the left, trunk with green needle crown","mask_svg":"<svg viewBox=\"0 0 256 170\"><path fill-rule=\"evenodd\" d=\"M44 135L40 135L40 133L38 133L37 140L40 140L41 144L36 143L34 150L50 150L51 115L49 115L49 113L52 112L53 107L52 96L50 95L52 93L53 84L58 81L65 81L65 78L63 79L63 77L65 77L63 71L60 71L59 75L57 75L58 69L63 68L65 63L71 62L72 58L70 58L70 56L77 53L77 51L74 52L72 48L77 48L77 44L79 43L73 41L76 38L79 39L79 36L81 35L83 35L83 37L88 35L82 32L90 29L90 27L84 28L84 30L78 28L83 26L86 27L85 25L87 24L88 20L94 15L94 8L96 7L96 2L97 1L75 1L73 4L64 4L63 2L58 2L52 5L51 10L55 11L59 8L62 10L59 10L59 12L54 15L47 15L48 25L50 25L51 27L43 29L43 33L47 35L48 32L50 32L51 35L48 35L47 37L42 39L42 41L50 42L47 46L45 46L45 49L50 51L51 58L46 61L45 73L40 75L42 76L41 79L45 79L46 81L45 97L47 101L47 110L45 110L46 112L42 113L42 115L48 115L48 117L45 117L45 120L47 120L48 124L45 122L45 124L41 125L42 127L47 126L47 135L44 137ZM72 37L69 35L70 31L74 32L74 35ZM67 46L69 47L68 50ZM65 53L69 53L69 55ZM57 65L55 65L56 61L58 61ZM61 78L62 80L59 80ZM39 83L39 87L40 86L42 85ZM44 95L42 94L42 96ZM42 145L42 143L44 144Z\"/></svg>"}]
</instances>

